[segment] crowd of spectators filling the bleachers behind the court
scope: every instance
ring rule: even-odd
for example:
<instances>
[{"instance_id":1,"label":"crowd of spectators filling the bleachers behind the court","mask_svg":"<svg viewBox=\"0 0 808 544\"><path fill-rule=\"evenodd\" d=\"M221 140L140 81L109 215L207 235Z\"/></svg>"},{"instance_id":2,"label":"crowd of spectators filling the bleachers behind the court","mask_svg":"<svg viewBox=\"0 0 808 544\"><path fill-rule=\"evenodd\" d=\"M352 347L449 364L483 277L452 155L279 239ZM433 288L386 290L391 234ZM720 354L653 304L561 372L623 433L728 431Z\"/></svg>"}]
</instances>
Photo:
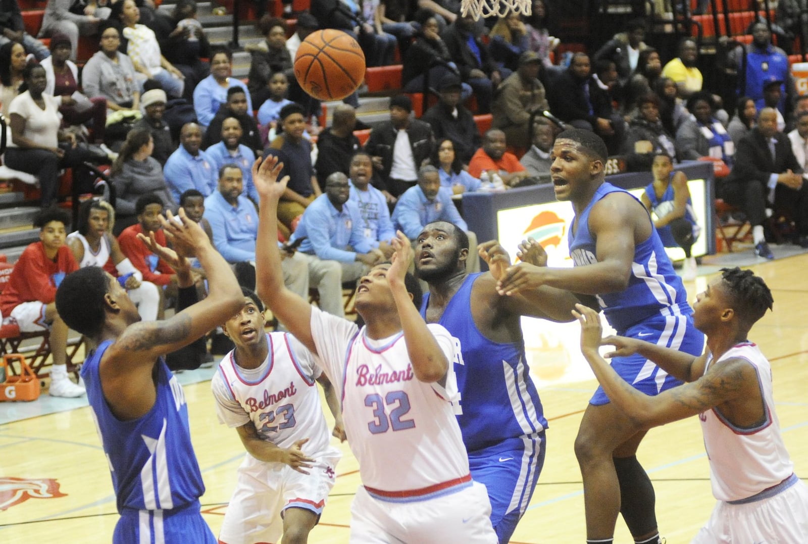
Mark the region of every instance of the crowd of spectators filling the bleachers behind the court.
<instances>
[{"instance_id":1,"label":"crowd of spectators filling the bleachers behind the court","mask_svg":"<svg viewBox=\"0 0 808 544\"><path fill-rule=\"evenodd\" d=\"M551 183L553 140L568 125L599 134L634 171L650 172L657 162L660 172L685 160L722 162L730 175L718 179L716 193L751 221L758 255L772 258L772 211L791 221L793 242L808 247L808 100L797 96L788 58L764 23L752 25L751 43L726 59L741 98L725 104L705 87L694 38L668 52L646 39L646 21L637 19L591 56L557 54L543 0L532 3L529 17L485 21L461 15L448 0L410 2L411 10L391 0L313 0L294 32L284 19L257 21L263 40L247 48L246 81L233 77L233 53L208 43L194 0L179 0L170 12L119 0L88 3L79 13L78 3L48 1L40 32L50 38L46 48L24 32L15 0L0 0L5 163L39 178L48 207L57 201L59 169L82 161L77 139L108 146L116 157L108 176L116 218L107 217L104 228L123 237L120 255L116 243L107 245L144 282L171 285L160 277L165 267L140 251L137 234L159 230L154 217L183 201L240 279L254 282L251 167L257 157L277 157L289 176L278 210L288 282L301 295L316 286L321 306L340 314L343 282L389 257L393 229L414 238L426 222L444 218L468 230L456 208L464 193ZM323 27L356 36L368 66L392 63L396 48L402 58L402 91L364 145L355 134L356 94L330 108L331 124L320 127L320 103L294 77L301 40ZM97 36L99 50L82 67L78 36L88 35ZM418 118L403 93L425 86L437 100ZM487 113L490 129L480 133L474 116ZM659 194L648 193L649 209L667 187L671 195L676 188L677 202L688 198L680 176L665 176L654 182ZM658 226L691 219L684 205L674 210ZM82 247L107 240L81 235ZM682 239L667 237L671 245ZM478 259L468 262L473 269Z\"/></svg>"}]
</instances>

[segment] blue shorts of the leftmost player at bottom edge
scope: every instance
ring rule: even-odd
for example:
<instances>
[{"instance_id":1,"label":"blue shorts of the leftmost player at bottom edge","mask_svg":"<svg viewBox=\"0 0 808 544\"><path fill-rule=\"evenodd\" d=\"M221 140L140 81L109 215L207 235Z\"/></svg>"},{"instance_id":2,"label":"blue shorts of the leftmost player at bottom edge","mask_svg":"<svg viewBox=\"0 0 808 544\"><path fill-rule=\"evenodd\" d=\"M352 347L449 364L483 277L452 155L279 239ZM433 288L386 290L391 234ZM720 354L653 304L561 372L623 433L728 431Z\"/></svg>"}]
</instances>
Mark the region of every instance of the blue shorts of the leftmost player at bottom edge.
<instances>
[{"instance_id":1,"label":"blue shorts of the leftmost player at bottom edge","mask_svg":"<svg viewBox=\"0 0 808 544\"><path fill-rule=\"evenodd\" d=\"M217 544L202 519L199 501L173 510L124 508L112 534L113 544Z\"/></svg>"}]
</instances>

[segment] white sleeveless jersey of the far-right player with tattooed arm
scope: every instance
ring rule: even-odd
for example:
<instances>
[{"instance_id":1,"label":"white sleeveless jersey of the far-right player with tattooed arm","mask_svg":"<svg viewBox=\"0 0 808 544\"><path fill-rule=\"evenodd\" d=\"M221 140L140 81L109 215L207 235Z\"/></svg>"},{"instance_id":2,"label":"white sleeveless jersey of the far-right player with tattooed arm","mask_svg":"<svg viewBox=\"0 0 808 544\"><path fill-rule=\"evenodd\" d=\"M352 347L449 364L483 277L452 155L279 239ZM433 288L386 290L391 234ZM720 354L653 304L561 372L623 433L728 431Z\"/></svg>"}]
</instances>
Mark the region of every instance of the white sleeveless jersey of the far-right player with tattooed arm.
<instances>
[{"instance_id":1,"label":"white sleeveless jersey of the far-right player with tattooed arm","mask_svg":"<svg viewBox=\"0 0 808 544\"><path fill-rule=\"evenodd\" d=\"M755 428L734 427L715 408L699 414L709 458L713 496L718 500L746 499L793 474L780 421L774 411L772 367L755 344L737 344L718 360L743 359L755 367L766 420ZM705 365L705 373L712 365Z\"/></svg>"}]
</instances>

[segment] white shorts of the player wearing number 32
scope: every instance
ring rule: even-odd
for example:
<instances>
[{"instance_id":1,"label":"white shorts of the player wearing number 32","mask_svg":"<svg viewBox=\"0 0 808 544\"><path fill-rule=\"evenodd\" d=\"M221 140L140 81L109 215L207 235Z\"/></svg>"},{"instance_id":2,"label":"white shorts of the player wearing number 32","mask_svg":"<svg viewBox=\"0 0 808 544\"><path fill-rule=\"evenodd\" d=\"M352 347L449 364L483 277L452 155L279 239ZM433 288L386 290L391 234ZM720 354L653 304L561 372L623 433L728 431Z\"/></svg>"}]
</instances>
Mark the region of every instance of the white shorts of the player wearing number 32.
<instances>
[{"instance_id":1,"label":"white shorts of the player wearing number 32","mask_svg":"<svg viewBox=\"0 0 808 544\"><path fill-rule=\"evenodd\" d=\"M351 544L497 544L482 483L434 499L388 502L364 486L351 504Z\"/></svg>"}]
</instances>

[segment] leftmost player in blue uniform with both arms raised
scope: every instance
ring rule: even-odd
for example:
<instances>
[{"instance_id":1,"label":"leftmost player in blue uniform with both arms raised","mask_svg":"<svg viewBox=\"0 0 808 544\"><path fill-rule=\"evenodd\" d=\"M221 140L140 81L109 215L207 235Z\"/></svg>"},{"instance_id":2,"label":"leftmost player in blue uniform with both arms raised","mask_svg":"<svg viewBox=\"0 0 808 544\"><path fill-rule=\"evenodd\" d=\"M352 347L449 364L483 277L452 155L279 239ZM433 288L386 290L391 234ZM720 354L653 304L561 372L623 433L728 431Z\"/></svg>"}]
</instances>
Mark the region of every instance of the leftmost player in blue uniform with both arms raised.
<instances>
[{"instance_id":1,"label":"leftmost player in blue uniform with both arms raised","mask_svg":"<svg viewBox=\"0 0 808 544\"><path fill-rule=\"evenodd\" d=\"M196 289L191 266L180 255L196 255L210 285L203 301L164 321L140 322L126 290L98 267L69 274L56 294L65 323L98 344L82 366L82 378L112 473L120 513L116 544L217 542L200 514L204 484L183 389L163 354L234 315L244 297L204 230L183 209L179 221L168 216L168 221L161 217L162 226L177 252L159 247L154 236L141 239L175 268L179 297Z\"/></svg>"}]
</instances>

